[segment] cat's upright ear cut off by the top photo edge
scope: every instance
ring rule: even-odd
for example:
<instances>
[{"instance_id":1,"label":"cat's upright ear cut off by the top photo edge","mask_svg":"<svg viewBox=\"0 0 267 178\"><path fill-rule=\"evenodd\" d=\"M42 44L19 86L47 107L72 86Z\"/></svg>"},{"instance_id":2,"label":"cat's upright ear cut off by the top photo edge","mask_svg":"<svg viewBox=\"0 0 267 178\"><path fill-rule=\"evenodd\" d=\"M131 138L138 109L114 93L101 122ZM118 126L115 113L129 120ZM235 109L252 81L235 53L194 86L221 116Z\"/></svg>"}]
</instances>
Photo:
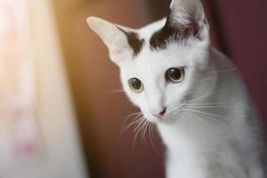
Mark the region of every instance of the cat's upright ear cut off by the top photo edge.
<instances>
[{"instance_id":1,"label":"cat's upright ear cut off by the top photo edge","mask_svg":"<svg viewBox=\"0 0 267 178\"><path fill-rule=\"evenodd\" d=\"M173 28L185 33L184 36L190 33L199 39L209 38L209 25L199 0L173 0L167 20Z\"/></svg>"}]
</instances>

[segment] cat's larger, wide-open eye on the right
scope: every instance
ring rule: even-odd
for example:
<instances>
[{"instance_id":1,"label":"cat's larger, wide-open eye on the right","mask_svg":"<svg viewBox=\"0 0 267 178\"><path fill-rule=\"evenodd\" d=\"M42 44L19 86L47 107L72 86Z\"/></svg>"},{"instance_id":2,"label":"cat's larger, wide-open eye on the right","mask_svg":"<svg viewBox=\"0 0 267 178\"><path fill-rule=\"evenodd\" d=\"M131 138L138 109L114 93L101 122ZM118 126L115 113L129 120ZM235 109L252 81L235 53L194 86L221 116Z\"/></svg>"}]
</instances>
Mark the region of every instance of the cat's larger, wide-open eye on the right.
<instances>
[{"instance_id":1,"label":"cat's larger, wide-open eye on the right","mask_svg":"<svg viewBox=\"0 0 267 178\"><path fill-rule=\"evenodd\" d=\"M171 68L166 71L166 81L172 83L180 83L184 78L184 69L180 68Z\"/></svg>"}]
</instances>

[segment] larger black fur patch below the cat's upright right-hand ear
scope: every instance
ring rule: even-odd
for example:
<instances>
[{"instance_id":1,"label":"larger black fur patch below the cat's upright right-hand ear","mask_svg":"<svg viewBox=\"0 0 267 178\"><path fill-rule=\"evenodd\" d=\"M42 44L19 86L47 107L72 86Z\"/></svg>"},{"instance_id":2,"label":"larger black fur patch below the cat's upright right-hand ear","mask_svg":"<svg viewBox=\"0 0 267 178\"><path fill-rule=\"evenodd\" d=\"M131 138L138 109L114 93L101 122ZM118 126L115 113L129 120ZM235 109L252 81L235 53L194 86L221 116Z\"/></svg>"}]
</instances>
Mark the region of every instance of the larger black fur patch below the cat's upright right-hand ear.
<instances>
[{"instance_id":1,"label":"larger black fur patch below the cat's upright right-hand ear","mask_svg":"<svg viewBox=\"0 0 267 178\"><path fill-rule=\"evenodd\" d=\"M163 28L156 31L150 38L151 50L163 50L166 49L167 44L170 42L182 42L188 39L190 36L198 35L198 25L193 22L188 25L181 25L175 21L172 21L171 14L169 12L166 24Z\"/></svg>"}]
</instances>

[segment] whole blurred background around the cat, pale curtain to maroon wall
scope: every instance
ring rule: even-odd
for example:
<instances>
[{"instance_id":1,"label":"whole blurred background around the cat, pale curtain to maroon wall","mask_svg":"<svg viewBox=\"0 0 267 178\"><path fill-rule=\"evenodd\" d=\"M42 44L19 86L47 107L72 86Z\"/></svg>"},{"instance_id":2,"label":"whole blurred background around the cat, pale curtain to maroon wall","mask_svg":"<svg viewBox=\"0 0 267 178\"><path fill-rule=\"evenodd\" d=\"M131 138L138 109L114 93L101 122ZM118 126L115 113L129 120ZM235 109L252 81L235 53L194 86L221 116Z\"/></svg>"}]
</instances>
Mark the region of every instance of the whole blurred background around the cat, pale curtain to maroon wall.
<instances>
[{"instance_id":1,"label":"whole blurred background around the cat, pale curtain to maroon wall","mask_svg":"<svg viewBox=\"0 0 267 178\"><path fill-rule=\"evenodd\" d=\"M203 0L212 42L238 65L267 117L267 2ZM170 0L0 0L0 177L162 178L164 147L134 129L137 109L87 27L163 18ZM125 125L124 125L125 123ZM266 123L266 122L263 122Z\"/></svg>"}]
</instances>

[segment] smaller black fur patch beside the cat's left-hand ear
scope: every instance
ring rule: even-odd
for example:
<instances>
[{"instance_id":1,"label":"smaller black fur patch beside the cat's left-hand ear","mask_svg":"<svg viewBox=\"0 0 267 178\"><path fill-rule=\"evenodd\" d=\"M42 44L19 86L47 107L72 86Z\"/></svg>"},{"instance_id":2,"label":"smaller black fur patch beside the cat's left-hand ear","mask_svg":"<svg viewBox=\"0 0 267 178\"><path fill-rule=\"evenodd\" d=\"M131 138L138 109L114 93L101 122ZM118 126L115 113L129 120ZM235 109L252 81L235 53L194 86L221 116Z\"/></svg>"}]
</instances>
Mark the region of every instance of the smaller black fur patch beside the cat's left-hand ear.
<instances>
[{"instance_id":1,"label":"smaller black fur patch beside the cat's left-hand ear","mask_svg":"<svg viewBox=\"0 0 267 178\"><path fill-rule=\"evenodd\" d=\"M138 35L134 32L126 32L122 28L118 29L124 32L125 36L127 37L128 44L134 51L134 56L138 55L138 53L140 53L142 50L144 39L139 39Z\"/></svg>"}]
</instances>

